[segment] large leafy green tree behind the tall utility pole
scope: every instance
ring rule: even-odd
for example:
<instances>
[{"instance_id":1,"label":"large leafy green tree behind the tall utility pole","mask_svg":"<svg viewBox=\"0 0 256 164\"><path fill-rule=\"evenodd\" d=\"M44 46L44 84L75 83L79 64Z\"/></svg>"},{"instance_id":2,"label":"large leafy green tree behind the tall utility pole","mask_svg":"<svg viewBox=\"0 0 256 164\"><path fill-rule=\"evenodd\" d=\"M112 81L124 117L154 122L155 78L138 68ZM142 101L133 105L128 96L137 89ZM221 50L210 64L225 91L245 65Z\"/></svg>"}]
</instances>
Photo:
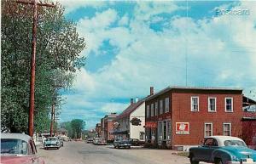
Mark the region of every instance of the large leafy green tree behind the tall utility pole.
<instances>
[{"instance_id":1,"label":"large leafy green tree behind the tall utility pole","mask_svg":"<svg viewBox=\"0 0 256 164\"><path fill-rule=\"evenodd\" d=\"M1 127L2 131L27 132L32 5L4 0L2 3ZM49 130L51 105L61 109L61 89L72 86L74 72L84 66L79 53L85 48L76 25L66 20L64 8L38 6L35 84L35 131ZM57 112L58 113L58 112Z\"/></svg>"}]
</instances>

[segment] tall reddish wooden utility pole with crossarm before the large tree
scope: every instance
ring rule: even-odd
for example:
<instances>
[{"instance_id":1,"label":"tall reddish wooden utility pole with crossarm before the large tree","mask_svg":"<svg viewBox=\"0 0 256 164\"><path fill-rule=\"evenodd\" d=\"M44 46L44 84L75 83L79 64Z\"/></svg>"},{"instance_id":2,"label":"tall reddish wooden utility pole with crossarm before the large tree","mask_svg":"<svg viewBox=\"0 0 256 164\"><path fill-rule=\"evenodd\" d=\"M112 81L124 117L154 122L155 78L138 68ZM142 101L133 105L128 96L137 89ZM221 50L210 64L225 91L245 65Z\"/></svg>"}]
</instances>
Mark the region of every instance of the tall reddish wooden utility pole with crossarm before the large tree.
<instances>
[{"instance_id":1,"label":"tall reddish wooden utility pole with crossarm before the large tree","mask_svg":"<svg viewBox=\"0 0 256 164\"><path fill-rule=\"evenodd\" d=\"M34 108L35 108L35 78L36 78L36 49L37 49L37 26L38 26L38 6L55 7L54 4L38 3L37 0L20 1L16 3L31 4L33 6L33 26L32 26L32 56L31 56L31 76L30 76L30 101L28 133L33 137L34 133Z\"/></svg>"}]
</instances>

